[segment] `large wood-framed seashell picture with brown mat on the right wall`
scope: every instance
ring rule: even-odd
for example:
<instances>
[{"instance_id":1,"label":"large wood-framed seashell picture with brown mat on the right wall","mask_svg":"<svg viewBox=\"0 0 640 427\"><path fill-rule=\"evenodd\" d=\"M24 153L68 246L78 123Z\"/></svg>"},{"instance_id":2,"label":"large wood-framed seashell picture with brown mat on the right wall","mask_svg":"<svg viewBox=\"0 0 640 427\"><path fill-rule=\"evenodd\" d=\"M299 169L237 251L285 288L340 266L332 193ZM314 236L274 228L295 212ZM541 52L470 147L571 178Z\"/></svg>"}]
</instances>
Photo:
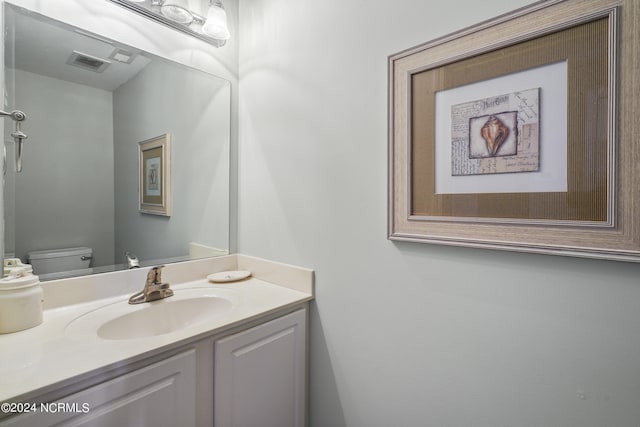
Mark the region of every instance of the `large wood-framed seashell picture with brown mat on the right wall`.
<instances>
[{"instance_id":1,"label":"large wood-framed seashell picture with brown mat on the right wall","mask_svg":"<svg viewBox=\"0 0 640 427\"><path fill-rule=\"evenodd\" d=\"M388 237L640 261L633 0L551 0L389 57Z\"/></svg>"}]
</instances>

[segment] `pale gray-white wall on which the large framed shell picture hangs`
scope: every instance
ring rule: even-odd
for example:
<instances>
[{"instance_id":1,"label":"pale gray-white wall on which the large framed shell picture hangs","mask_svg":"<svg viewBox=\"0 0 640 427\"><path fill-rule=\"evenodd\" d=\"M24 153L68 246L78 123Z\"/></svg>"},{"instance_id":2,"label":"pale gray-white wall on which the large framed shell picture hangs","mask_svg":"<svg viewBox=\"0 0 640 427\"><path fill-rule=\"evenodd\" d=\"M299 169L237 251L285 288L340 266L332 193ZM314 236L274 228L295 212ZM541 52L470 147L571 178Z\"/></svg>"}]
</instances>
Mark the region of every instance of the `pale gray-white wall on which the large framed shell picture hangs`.
<instances>
[{"instance_id":1,"label":"pale gray-white wall on which the large framed shell picture hangs","mask_svg":"<svg viewBox=\"0 0 640 427\"><path fill-rule=\"evenodd\" d=\"M637 265L386 239L387 56L526 0L242 0L239 251L316 269L312 427L637 427Z\"/></svg>"}]
</instances>

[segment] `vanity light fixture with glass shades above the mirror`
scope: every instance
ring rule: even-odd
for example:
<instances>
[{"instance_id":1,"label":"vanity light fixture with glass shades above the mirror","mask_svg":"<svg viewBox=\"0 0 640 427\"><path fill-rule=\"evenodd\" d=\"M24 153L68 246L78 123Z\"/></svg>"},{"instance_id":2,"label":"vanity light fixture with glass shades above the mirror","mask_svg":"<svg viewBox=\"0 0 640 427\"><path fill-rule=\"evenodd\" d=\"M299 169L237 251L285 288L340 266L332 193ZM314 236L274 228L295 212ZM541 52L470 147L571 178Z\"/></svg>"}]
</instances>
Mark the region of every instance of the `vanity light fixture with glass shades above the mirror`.
<instances>
[{"instance_id":1,"label":"vanity light fixture with glass shades above the mirror","mask_svg":"<svg viewBox=\"0 0 640 427\"><path fill-rule=\"evenodd\" d=\"M222 0L110 1L217 47L231 38Z\"/></svg>"}]
</instances>

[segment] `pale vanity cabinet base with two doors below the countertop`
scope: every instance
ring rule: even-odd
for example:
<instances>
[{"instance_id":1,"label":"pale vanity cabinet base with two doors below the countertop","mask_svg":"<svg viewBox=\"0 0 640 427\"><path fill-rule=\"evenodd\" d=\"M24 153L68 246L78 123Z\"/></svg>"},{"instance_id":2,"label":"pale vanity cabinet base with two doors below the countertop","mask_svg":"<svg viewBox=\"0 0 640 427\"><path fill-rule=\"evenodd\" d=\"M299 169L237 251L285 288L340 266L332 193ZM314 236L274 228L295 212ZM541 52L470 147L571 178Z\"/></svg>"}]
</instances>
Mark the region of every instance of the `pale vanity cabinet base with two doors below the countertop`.
<instances>
[{"instance_id":1,"label":"pale vanity cabinet base with two doors below the countertop","mask_svg":"<svg viewBox=\"0 0 640 427\"><path fill-rule=\"evenodd\" d=\"M37 403L0 426L304 427L306 305L284 313L152 355L115 378L98 373L97 383L34 395L52 410Z\"/></svg>"}]
</instances>

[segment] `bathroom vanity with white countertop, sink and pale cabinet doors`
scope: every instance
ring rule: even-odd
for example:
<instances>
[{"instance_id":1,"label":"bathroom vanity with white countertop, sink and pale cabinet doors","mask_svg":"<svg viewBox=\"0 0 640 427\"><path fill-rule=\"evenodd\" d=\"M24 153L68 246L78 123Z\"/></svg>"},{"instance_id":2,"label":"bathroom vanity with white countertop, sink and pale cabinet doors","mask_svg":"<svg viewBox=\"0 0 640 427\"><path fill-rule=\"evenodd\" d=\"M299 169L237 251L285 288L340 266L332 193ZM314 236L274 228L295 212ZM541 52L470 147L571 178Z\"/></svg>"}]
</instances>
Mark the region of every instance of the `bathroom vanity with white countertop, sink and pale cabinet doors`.
<instances>
[{"instance_id":1,"label":"bathroom vanity with white countertop, sink and pale cabinet doors","mask_svg":"<svg viewBox=\"0 0 640 427\"><path fill-rule=\"evenodd\" d=\"M43 285L43 324L0 335L0 425L305 425L311 270L177 263L173 297L129 305L146 270ZM225 270L253 275L206 280Z\"/></svg>"}]
</instances>

